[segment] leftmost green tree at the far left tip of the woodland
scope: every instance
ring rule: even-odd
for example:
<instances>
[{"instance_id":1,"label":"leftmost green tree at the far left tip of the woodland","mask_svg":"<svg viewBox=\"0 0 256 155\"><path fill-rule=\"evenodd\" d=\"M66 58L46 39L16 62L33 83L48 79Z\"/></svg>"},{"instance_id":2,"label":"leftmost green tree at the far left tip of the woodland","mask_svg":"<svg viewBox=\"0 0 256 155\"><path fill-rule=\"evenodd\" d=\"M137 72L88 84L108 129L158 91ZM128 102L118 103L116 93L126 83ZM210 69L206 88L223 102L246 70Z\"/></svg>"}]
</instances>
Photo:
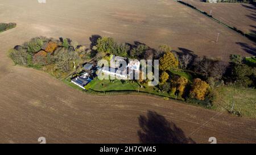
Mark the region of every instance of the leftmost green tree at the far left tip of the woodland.
<instances>
[{"instance_id":1,"label":"leftmost green tree at the far left tip of the woodland","mask_svg":"<svg viewBox=\"0 0 256 155\"><path fill-rule=\"evenodd\" d=\"M10 49L9 56L15 64L23 66L26 66L28 64L28 53L25 49L20 49L19 51L16 49Z\"/></svg>"}]
</instances>

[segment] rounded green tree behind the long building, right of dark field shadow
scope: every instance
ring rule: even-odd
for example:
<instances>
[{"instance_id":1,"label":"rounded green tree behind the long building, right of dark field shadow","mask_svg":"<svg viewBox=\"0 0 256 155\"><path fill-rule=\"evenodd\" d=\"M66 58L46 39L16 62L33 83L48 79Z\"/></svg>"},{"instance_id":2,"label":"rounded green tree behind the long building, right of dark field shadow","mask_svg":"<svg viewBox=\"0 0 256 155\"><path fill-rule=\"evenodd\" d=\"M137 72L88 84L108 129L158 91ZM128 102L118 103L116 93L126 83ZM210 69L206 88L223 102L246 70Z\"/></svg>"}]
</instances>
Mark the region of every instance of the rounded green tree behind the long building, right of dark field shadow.
<instances>
[{"instance_id":1,"label":"rounded green tree behind the long building, right of dark field shadow","mask_svg":"<svg viewBox=\"0 0 256 155\"><path fill-rule=\"evenodd\" d=\"M100 37L97 40L97 51L111 53L114 47L114 39L111 37Z\"/></svg>"}]
</instances>

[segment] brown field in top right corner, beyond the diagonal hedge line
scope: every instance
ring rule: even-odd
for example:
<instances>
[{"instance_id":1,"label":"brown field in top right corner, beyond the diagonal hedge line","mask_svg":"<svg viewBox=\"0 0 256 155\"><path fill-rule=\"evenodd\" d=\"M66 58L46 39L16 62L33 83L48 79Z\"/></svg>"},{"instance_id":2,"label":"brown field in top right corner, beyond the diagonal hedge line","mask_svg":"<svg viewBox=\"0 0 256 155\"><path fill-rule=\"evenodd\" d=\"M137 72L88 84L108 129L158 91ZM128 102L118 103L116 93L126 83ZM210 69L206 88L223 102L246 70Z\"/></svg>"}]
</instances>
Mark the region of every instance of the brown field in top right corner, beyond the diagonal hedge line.
<instances>
[{"instance_id":1,"label":"brown field in top right corner, beyond the diagonal hedge line","mask_svg":"<svg viewBox=\"0 0 256 155\"><path fill-rule=\"evenodd\" d=\"M182 0L210 14L229 26L246 33L256 31L256 7L247 3L206 3L201 0Z\"/></svg>"}]
</instances>

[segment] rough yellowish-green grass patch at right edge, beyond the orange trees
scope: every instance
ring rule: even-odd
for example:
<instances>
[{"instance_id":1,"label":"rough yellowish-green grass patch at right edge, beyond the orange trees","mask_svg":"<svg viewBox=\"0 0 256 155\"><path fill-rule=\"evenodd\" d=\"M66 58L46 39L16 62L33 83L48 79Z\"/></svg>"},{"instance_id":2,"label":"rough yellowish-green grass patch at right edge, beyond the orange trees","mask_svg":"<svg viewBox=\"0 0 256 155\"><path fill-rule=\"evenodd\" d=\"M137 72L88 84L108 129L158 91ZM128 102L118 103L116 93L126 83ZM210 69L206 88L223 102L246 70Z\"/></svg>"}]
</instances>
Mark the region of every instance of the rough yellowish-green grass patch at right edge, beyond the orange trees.
<instances>
[{"instance_id":1,"label":"rough yellowish-green grass patch at right edge, beyond the orange trees","mask_svg":"<svg viewBox=\"0 0 256 155\"><path fill-rule=\"evenodd\" d=\"M213 109L217 111L230 111L234 102L234 111L240 111L242 116L256 118L255 89L222 86L217 87L214 91L217 97L213 102Z\"/></svg>"}]
</instances>

